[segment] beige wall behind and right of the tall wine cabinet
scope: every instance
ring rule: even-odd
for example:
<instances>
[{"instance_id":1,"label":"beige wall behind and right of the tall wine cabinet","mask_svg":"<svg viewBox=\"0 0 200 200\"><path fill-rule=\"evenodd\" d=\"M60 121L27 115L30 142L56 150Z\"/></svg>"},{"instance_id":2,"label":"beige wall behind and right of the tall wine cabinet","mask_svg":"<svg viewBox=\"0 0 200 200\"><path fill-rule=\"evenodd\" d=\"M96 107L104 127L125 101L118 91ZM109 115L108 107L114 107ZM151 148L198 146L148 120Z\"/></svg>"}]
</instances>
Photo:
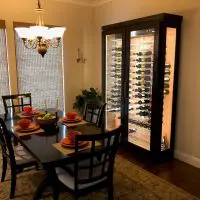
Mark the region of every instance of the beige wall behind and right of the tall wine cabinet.
<instances>
[{"instance_id":1,"label":"beige wall behind and right of the tall wine cabinet","mask_svg":"<svg viewBox=\"0 0 200 200\"><path fill-rule=\"evenodd\" d=\"M101 85L101 26L162 12L183 15L175 155L200 167L200 1L113 0L94 9L93 85Z\"/></svg>"}]
</instances>

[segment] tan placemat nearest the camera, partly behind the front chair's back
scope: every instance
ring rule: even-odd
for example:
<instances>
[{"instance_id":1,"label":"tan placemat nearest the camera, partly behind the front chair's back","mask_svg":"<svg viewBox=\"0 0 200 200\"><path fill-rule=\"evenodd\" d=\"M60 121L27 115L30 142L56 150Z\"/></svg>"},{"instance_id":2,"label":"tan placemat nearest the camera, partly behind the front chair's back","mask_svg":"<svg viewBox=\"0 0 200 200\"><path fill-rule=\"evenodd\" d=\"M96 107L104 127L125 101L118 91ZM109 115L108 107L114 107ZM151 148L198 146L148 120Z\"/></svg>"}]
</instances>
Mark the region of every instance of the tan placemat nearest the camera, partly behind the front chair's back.
<instances>
[{"instance_id":1,"label":"tan placemat nearest the camera, partly behind the front chair's back","mask_svg":"<svg viewBox=\"0 0 200 200\"><path fill-rule=\"evenodd\" d=\"M60 151L60 152L63 153L63 154L66 154L66 155L72 154L72 153L74 153L74 151L75 151L74 148L63 147L63 146L61 145L60 142L55 143L55 144L52 144L52 145L53 145L53 147L55 147L58 151ZM83 150L86 150L86 149L91 148L91 146L92 146L92 142L88 142L88 144L87 144L86 146L79 148L79 150L80 150L80 151L83 151ZM95 147L97 147L97 146L101 146L101 143L100 143L100 142L95 142Z\"/></svg>"}]
</instances>

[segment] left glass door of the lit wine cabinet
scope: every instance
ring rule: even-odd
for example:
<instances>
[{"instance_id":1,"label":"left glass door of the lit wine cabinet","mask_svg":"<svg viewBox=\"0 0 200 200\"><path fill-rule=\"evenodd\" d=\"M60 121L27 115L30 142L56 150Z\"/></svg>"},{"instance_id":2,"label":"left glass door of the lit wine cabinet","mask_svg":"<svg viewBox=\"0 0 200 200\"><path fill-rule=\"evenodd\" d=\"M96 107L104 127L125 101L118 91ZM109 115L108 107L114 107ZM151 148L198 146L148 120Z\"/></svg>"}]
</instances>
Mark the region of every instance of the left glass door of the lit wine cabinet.
<instances>
[{"instance_id":1,"label":"left glass door of the lit wine cabinet","mask_svg":"<svg viewBox=\"0 0 200 200\"><path fill-rule=\"evenodd\" d=\"M106 35L105 42L105 125L112 130L121 124L122 34Z\"/></svg>"}]
</instances>

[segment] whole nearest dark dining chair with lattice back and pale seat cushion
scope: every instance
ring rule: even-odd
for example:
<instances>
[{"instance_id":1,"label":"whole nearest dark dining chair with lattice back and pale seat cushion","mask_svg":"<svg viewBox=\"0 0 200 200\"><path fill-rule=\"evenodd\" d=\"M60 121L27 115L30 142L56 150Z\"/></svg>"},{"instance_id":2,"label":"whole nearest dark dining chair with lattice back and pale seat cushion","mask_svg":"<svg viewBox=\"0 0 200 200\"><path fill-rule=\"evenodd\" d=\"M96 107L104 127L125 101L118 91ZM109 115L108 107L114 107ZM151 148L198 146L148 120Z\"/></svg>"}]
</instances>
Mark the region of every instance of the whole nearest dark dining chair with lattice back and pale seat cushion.
<instances>
[{"instance_id":1,"label":"whole nearest dark dining chair with lattice back and pale seat cushion","mask_svg":"<svg viewBox=\"0 0 200 200\"><path fill-rule=\"evenodd\" d=\"M108 199L113 199L114 161L121 133L122 127L120 126L105 134L76 136L76 160L71 165L67 165L63 161L55 169L59 182L74 196L75 200L87 192L92 192L105 185L108 189ZM80 151L78 144L85 141L89 142L90 147ZM101 145L96 146L97 143ZM57 198L54 199L59 197L59 188L57 187Z\"/></svg>"}]
</instances>

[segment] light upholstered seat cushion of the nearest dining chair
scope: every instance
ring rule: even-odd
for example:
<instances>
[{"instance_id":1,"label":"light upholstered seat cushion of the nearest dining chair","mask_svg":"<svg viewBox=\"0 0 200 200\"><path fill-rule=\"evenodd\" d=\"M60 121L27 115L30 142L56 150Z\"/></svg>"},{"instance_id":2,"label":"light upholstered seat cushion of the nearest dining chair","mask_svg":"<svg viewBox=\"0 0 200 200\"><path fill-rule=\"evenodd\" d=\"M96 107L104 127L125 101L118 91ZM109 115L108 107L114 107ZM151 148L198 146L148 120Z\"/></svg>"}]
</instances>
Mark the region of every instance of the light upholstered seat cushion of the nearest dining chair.
<instances>
[{"instance_id":1,"label":"light upholstered seat cushion of the nearest dining chair","mask_svg":"<svg viewBox=\"0 0 200 200\"><path fill-rule=\"evenodd\" d=\"M95 159L94 162L97 164L98 160ZM89 170L84 169L85 167L89 166L89 163L90 163L89 159L81 161L79 163L79 166L83 167L83 169L79 170L79 172L78 172L79 180L89 177ZM93 176L94 177L99 176L101 174L101 171L102 171L102 166L94 167L93 168ZM64 168L61 168L61 167L56 168L56 173L57 173L58 179L64 185L66 185L68 188L70 188L71 190L75 189L73 172L74 172L74 164L65 165ZM94 186L101 182L104 182L106 179L107 179L107 177L103 177L102 179L99 179L98 181L93 181L93 182L90 182L87 184L79 184L78 189L86 189L88 187L91 187L91 186Z\"/></svg>"}]
</instances>

